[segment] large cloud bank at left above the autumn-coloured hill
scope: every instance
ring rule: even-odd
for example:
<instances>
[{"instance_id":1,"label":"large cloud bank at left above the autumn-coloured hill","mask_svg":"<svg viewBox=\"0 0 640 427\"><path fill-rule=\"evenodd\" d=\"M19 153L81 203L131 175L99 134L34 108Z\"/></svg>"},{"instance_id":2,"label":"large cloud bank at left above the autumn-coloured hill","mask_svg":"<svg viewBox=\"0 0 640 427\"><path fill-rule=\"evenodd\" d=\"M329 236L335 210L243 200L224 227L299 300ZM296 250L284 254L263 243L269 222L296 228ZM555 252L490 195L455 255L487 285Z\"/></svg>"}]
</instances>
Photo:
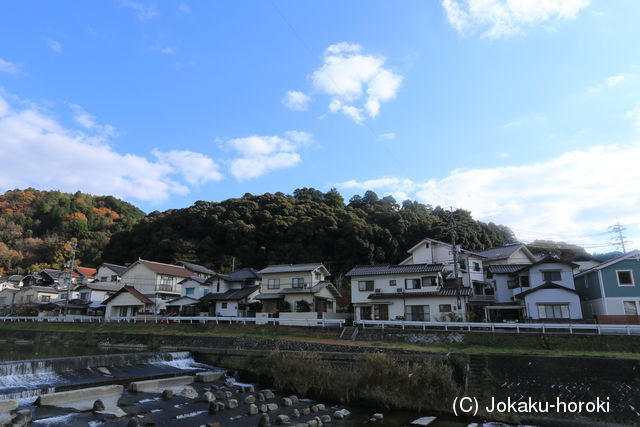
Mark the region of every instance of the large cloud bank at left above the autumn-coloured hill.
<instances>
[{"instance_id":1,"label":"large cloud bank at left above the autumn-coloured hill","mask_svg":"<svg viewBox=\"0 0 640 427\"><path fill-rule=\"evenodd\" d=\"M220 179L215 162L190 151L154 151L156 161L121 154L104 141L104 126L81 107L74 117L86 130L63 127L36 107L13 108L0 96L0 188L82 190L151 203L186 194L189 185Z\"/></svg>"}]
</instances>

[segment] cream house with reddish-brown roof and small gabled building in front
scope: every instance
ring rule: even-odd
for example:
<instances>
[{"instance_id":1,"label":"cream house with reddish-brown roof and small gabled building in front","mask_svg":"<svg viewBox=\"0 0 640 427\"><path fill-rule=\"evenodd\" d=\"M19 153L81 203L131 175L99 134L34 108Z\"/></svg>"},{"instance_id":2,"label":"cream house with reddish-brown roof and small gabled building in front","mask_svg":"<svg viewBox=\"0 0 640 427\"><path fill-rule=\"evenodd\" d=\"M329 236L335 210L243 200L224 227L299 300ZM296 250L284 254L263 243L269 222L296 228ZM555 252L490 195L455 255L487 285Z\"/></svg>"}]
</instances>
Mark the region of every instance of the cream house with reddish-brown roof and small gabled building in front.
<instances>
[{"instance_id":1,"label":"cream house with reddish-brown roof and small gabled building in front","mask_svg":"<svg viewBox=\"0 0 640 427\"><path fill-rule=\"evenodd\" d=\"M150 313L163 313L166 310L167 301L180 296L182 289L180 282L192 275L193 272L183 266L138 259L120 276L122 284L128 288L134 288L137 294L127 292L126 289L123 292L116 292L103 302L106 306L105 316L121 316L119 313L125 312L148 312L149 304L146 300L140 300L138 294L152 301Z\"/></svg>"}]
</instances>

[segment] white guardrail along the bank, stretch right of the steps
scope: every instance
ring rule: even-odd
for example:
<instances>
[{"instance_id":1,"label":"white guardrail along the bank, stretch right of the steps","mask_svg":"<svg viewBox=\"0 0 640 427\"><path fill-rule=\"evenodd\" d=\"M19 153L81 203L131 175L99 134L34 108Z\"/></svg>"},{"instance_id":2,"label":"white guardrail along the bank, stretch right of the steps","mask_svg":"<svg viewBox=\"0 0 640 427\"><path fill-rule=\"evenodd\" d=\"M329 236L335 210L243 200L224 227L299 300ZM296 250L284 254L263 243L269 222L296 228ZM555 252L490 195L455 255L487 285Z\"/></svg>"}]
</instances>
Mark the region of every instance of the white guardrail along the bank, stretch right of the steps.
<instances>
[{"instance_id":1,"label":"white guardrail along the bank, stretch right of the steps","mask_svg":"<svg viewBox=\"0 0 640 427\"><path fill-rule=\"evenodd\" d=\"M489 332L489 333L556 333L597 335L640 335L640 325L604 325L588 323L481 323L481 322L418 322L403 320L358 320L363 328L422 329L423 331Z\"/></svg>"}]
</instances>

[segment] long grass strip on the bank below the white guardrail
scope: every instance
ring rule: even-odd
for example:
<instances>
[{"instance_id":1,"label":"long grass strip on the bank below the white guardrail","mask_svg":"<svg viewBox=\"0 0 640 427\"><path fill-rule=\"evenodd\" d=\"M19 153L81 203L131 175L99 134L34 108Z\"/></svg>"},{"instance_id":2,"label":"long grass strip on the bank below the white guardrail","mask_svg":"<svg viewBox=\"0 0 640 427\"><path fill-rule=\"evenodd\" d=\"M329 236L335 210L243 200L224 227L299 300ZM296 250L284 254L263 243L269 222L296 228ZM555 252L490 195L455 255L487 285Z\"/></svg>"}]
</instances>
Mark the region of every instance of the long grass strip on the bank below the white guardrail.
<instances>
[{"instance_id":1,"label":"long grass strip on the bank below the white guardrail","mask_svg":"<svg viewBox=\"0 0 640 427\"><path fill-rule=\"evenodd\" d=\"M640 337L466 333L462 342L421 344L397 341L339 341L337 328L268 325L0 323L2 331L84 332L140 335L218 336L304 340L389 350L460 354L513 354L640 359Z\"/></svg>"}]
</instances>

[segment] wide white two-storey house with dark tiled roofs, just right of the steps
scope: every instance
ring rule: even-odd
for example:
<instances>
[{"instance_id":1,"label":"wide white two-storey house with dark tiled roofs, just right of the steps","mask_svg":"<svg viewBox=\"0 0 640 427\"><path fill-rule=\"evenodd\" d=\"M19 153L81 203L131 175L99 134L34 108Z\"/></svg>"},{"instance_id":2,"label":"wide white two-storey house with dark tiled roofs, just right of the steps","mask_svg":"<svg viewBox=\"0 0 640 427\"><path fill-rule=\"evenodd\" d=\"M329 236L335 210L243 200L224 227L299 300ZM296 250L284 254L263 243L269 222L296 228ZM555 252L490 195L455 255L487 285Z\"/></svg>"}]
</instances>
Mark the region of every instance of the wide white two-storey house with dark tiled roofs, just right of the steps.
<instances>
[{"instance_id":1,"label":"wide white two-storey house with dark tiled roofs, just right of the steps","mask_svg":"<svg viewBox=\"0 0 640 427\"><path fill-rule=\"evenodd\" d=\"M444 264L366 265L352 268L351 301L355 320L441 321L452 319L458 293L466 307L469 286L445 287ZM460 314L461 313L461 314Z\"/></svg>"}]
</instances>

